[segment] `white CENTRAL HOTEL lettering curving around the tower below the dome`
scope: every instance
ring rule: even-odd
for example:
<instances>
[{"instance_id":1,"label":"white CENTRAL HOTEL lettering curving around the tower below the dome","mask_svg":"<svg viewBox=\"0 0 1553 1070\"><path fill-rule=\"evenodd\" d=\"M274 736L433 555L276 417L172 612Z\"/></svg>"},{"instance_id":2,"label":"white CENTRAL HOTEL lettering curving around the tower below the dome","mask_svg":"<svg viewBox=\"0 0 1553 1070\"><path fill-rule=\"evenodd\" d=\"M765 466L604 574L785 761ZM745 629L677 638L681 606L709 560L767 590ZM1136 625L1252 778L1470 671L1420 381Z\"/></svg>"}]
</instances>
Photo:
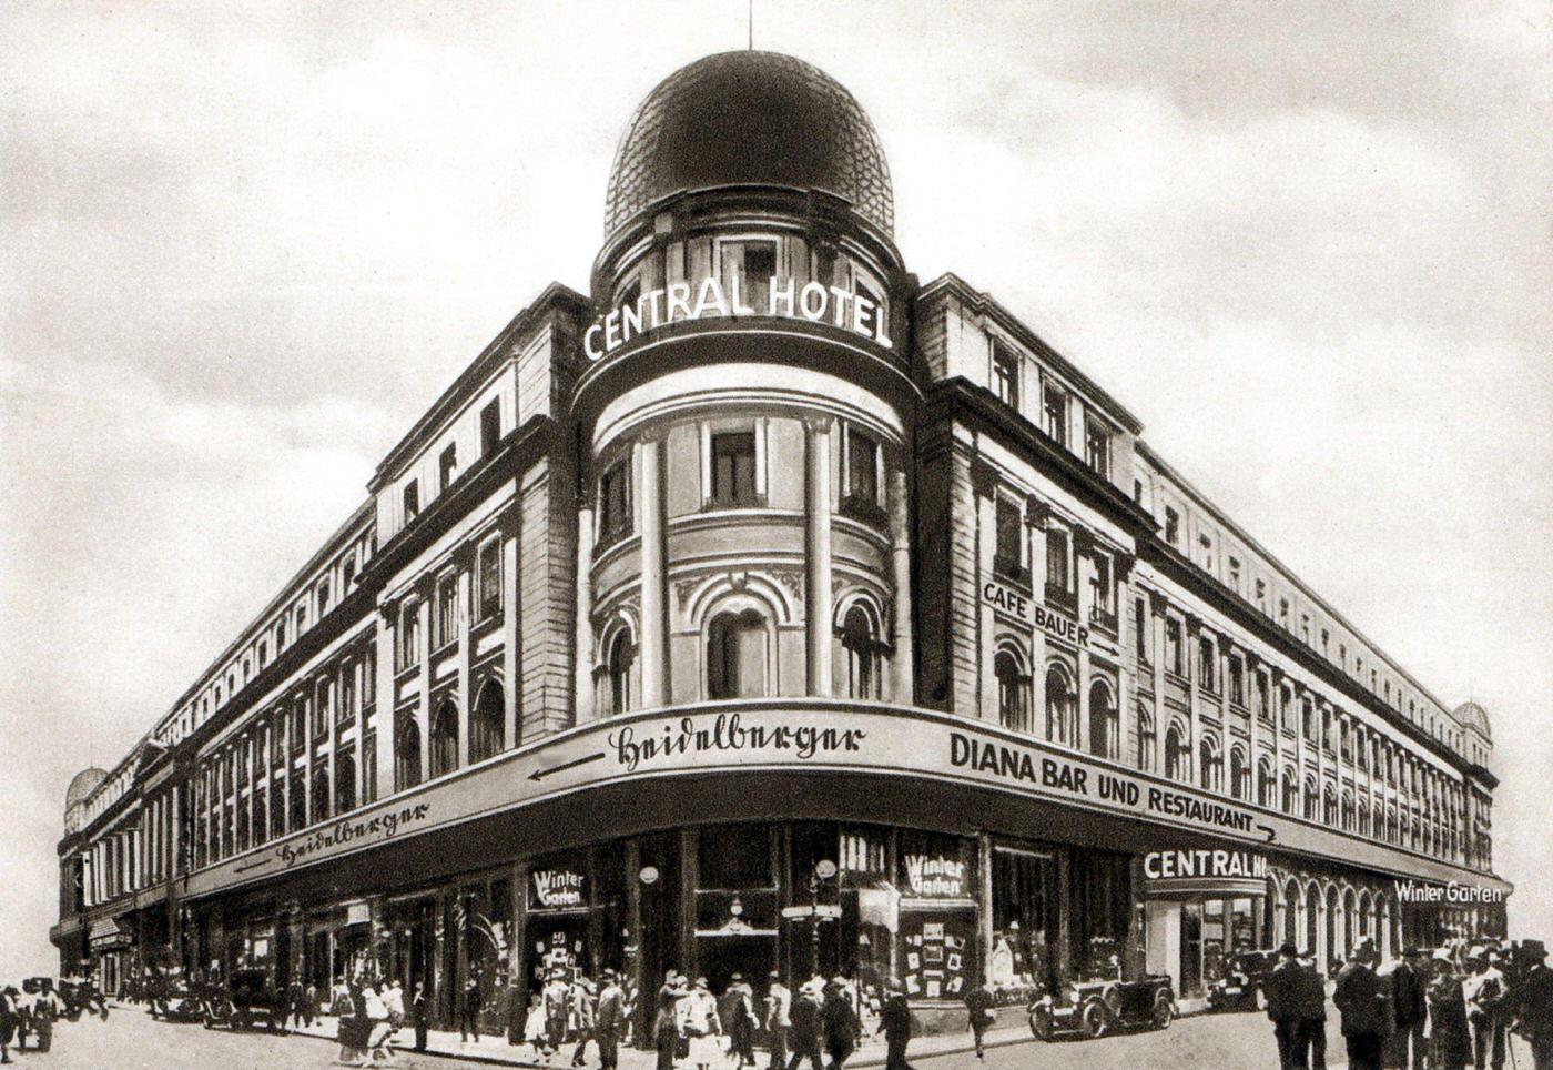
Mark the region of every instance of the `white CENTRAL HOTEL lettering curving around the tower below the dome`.
<instances>
[{"instance_id":1,"label":"white CENTRAL HOTEL lettering curving around the tower below the dome","mask_svg":"<svg viewBox=\"0 0 1553 1070\"><path fill-rule=\"evenodd\" d=\"M621 304L613 312L593 320L582 334L582 349L589 360L603 360L632 339L651 334L669 323L704 320L710 317L773 315L786 320L828 323L853 334L860 334L885 349L895 343L885 332L884 309L865 294L853 294L840 286L776 278L767 281L764 307L756 309L745 298L744 280L735 275L724 286L710 275L700 283L669 283L648 290L635 301Z\"/></svg>"}]
</instances>

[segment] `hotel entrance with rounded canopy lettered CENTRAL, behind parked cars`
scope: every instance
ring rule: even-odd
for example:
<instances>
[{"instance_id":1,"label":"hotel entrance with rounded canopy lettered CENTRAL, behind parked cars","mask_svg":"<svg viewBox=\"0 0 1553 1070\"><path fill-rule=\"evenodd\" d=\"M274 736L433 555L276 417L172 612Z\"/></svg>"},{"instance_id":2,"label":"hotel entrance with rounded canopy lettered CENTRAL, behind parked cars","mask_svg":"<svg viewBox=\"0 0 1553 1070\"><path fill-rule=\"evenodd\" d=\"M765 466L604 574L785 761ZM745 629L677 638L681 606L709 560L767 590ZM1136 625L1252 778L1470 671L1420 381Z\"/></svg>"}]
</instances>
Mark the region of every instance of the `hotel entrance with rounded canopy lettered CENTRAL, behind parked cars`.
<instances>
[{"instance_id":1,"label":"hotel entrance with rounded canopy lettered CENTRAL, behind parked cars","mask_svg":"<svg viewBox=\"0 0 1553 1070\"><path fill-rule=\"evenodd\" d=\"M1267 859L1252 851L1177 849L1143 857L1146 968L1182 1000L1224 975L1228 955L1267 943Z\"/></svg>"}]
</instances>

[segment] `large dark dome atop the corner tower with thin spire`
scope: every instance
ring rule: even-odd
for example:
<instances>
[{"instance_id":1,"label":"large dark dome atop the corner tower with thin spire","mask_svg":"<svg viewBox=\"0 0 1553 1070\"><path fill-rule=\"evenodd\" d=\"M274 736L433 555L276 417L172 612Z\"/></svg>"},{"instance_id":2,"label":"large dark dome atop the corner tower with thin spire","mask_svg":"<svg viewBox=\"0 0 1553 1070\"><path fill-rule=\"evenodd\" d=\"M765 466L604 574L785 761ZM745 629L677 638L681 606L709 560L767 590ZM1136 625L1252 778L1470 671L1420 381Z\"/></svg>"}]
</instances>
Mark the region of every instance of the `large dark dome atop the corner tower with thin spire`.
<instances>
[{"instance_id":1,"label":"large dark dome atop the corner tower with thin spire","mask_svg":"<svg viewBox=\"0 0 1553 1070\"><path fill-rule=\"evenodd\" d=\"M825 189L895 228L890 166L853 95L801 59L728 51L674 71L631 116L604 233L671 193L742 183Z\"/></svg>"}]
</instances>

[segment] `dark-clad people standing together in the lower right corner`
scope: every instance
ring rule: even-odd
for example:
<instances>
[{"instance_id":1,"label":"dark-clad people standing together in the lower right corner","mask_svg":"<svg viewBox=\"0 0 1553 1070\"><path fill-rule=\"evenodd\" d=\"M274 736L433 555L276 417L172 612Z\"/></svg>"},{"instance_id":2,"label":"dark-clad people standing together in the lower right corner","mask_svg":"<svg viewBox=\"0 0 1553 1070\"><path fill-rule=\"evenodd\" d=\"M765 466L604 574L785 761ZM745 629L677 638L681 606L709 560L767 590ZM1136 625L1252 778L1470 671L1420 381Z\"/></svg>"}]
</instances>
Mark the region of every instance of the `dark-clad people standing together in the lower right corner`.
<instances>
[{"instance_id":1,"label":"dark-clad people standing together in the lower right corner","mask_svg":"<svg viewBox=\"0 0 1553 1070\"><path fill-rule=\"evenodd\" d=\"M1523 941L1513 974L1497 943L1471 949L1416 947L1379 968L1362 941L1337 974L1332 1006L1342 1016L1351 1070L1502 1070L1511 1031L1527 1037L1536 1070L1553 1070L1553 971L1541 941ZM1278 1065L1325 1070L1326 985L1309 955L1278 949L1263 981Z\"/></svg>"}]
</instances>

